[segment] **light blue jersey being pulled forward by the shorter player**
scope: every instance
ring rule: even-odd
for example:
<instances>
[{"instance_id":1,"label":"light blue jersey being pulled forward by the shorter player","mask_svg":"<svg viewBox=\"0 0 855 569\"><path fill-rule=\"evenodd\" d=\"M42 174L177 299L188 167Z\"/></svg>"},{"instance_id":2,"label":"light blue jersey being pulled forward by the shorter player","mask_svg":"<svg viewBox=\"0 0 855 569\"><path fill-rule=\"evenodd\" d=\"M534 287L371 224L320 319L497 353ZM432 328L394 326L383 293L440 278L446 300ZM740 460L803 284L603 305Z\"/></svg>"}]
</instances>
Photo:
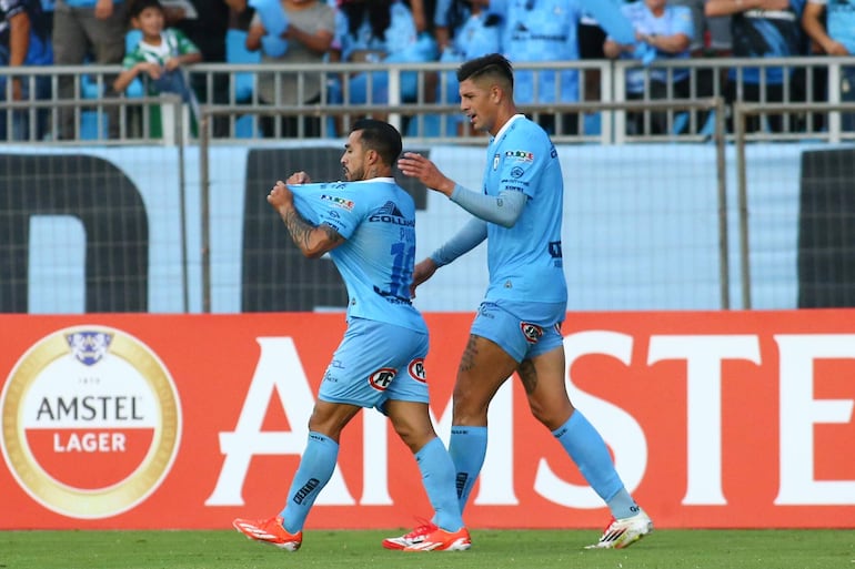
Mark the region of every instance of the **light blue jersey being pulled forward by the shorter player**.
<instances>
[{"instance_id":1,"label":"light blue jersey being pulled forward by the shorter player","mask_svg":"<svg viewBox=\"0 0 855 569\"><path fill-rule=\"evenodd\" d=\"M290 185L298 211L346 241L330 251L348 288L348 321L365 318L426 333L412 305L415 204L392 177Z\"/></svg>"}]
</instances>

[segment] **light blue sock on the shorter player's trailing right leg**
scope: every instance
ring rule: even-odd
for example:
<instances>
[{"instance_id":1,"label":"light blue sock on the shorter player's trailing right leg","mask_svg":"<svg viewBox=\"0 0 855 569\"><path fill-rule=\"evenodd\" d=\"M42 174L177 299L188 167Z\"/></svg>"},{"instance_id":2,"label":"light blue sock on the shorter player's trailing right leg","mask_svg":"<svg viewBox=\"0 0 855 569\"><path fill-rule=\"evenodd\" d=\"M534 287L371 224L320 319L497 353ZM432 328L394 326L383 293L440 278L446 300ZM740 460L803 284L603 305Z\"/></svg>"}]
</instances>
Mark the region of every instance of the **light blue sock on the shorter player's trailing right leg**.
<instances>
[{"instance_id":1,"label":"light blue sock on the shorter player's trailing right leg","mask_svg":"<svg viewBox=\"0 0 855 569\"><path fill-rule=\"evenodd\" d=\"M454 491L454 463L442 440L434 438L415 454L422 484L433 506L433 522L446 531L463 527L457 495Z\"/></svg>"}]
</instances>

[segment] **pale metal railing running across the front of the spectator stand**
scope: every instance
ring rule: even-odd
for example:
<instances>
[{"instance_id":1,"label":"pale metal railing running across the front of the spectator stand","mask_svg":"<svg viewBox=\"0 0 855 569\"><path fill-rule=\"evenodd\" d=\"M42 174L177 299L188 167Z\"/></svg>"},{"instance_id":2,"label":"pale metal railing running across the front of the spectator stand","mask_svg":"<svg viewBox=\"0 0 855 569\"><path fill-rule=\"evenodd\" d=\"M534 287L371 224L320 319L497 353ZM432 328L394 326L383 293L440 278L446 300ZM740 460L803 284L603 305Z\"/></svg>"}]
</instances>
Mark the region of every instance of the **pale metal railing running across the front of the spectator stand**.
<instances>
[{"instance_id":1,"label":"pale metal railing running across the front of the spectator stand","mask_svg":"<svg viewBox=\"0 0 855 569\"><path fill-rule=\"evenodd\" d=\"M560 128L553 133L556 142L595 142L602 144L622 144L628 142L654 141L684 141L694 142L707 140L711 135L714 118L703 116L696 112L686 113L685 110L666 110L668 129L666 132L653 132L650 121L645 116L641 132L630 132L626 123L627 106L620 103L628 103L626 90L626 73L638 69L638 62L618 60L586 60L563 62L520 62L517 70L531 70L535 74L574 71L579 74L580 92L586 93L590 99L582 100L577 104L541 104L522 105L523 110L533 114L535 120L562 113L575 114L579 129L576 132L562 132ZM844 67L855 67L855 58L789 58L789 59L758 59L745 60L735 58L700 58L678 61L655 62L648 68L643 68L644 92L638 101L648 103L654 101L651 93L652 73L665 72L667 78L673 78L678 70L688 72L688 92L686 100L724 98L727 94L728 71L735 73L735 83L732 84L736 102L745 94L744 87L747 70L756 69L760 72L757 84L758 104L766 103L819 103L827 95L829 103L841 100L841 91L837 85L841 82L841 70ZM273 106L276 111L286 111L293 116L312 116L320 121L320 138L342 136L342 130L346 129L348 118L365 114L386 114L390 121L404 130L404 134L415 140L431 140L434 142L472 142L471 139L480 136L471 132L465 124L454 123L446 119L459 115L459 105L449 98L449 85L453 82L455 63L325 63L320 68L316 64L198 64L189 68L189 73L195 79L197 84L203 84L210 93L215 93L210 101L202 101L204 106L215 106L217 112L225 123L224 129L213 131L211 135L215 142L258 142L263 139L260 134L256 118L269 114ZM772 101L768 98L773 92L772 74L775 70L784 70L787 81L781 87L781 101ZM40 143L46 140L62 144L162 144L161 138L152 136L145 130L147 120L142 121L142 128L128 122L128 111L144 112L147 108L139 95L123 93L115 98L121 101L120 124L113 125L112 134L104 132L104 103L111 99L107 96L110 90L111 78L120 71L117 65L79 65L79 67L46 67L46 68L7 68L7 79L21 77L28 85L31 95L26 101L11 101L11 82L6 82L4 102L0 102L0 112L6 114L6 132L0 132L0 140L17 143ZM374 90L374 79L371 72L388 71L389 100L383 104L354 104L349 102L351 84L354 75L368 74L368 100ZM291 106L270 105L259 99L255 81L260 74L273 74L278 79L285 75L296 81L298 91L303 92L306 78L319 75L324 89L315 103L295 104ZM413 75L414 74L414 75ZM412 81L415 78L418 85L416 95L411 100L402 100L401 85L403 81ZM274 83L279 81L274 80ZM60 82L70 82L74 93L72 98L59 99ZM39 82L49 85L50 93L47 99L38 99L37 85ZM560 83L559 83L560 84ZM556 87L560 89L560 87ZM133 91L133 90L130 90ZM129 91L129 92L130 92ZM453 94L453 89L451 89ZM139 92L139 89L138 89ZM561 101L562 93L551 93L551 98ZM535 96L541 93L535 92ZM306 96L308 98L308 96ZM677 100L677 93L667 92L665 100ZM612 103L617 106L612 106ZM60 109L70 105L74 112L76 130L69 140L58 140L60 128ZM142 109L142 111L140 111ZM391 112L396 109L400 112ZM655 111L650 108L648 112ZM228 110L223 113L221 111ZM38 132L34 128L38 123L39 111L47 114L46 132ZM11 129L12 113L23 113L31 129L24 140L14 140ZM730 128L732 109L725 108L726 123L728 128L727 140L733 140L735 133ZM140 119L137 119L138 123ZM338 121L338 122L336 122ZM342 123L342 121L344 121ZM93 126L94 123L94 126ZM212 125L209 125L212 128ZM118 132L117 132L118 131ZM294 136L303 136L300 131ZM273 132L271 138L280 138L282 132ZM807 114L802 116L784 116L784 128L772 131L767 128L746 133L746 140L852 140L855 132L847 132L841 128L839 122L822 122L817 118Z\"/></svg>"}]
</instances>

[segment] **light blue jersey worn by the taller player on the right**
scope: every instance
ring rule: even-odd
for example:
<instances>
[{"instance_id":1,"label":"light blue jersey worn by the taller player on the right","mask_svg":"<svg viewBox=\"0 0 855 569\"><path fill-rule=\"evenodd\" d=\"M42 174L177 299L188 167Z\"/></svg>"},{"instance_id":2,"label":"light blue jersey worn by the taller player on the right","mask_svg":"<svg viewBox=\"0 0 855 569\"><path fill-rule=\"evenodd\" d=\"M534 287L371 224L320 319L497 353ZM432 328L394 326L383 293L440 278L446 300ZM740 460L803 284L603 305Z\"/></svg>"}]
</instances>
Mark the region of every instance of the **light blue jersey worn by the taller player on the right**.
<instances>
[{"instance_id":1,"label":"light blue jersey worn by the taller player on the right","mask_svg":"<svg viewBox=\"0 0 855 569\"><path fill-rule=\"evenodd\" d=\"M546 132L522 114L502 126L487 146L483 191L499 195L503 190L524 192L529 200L512 227L487 223L485 301L566 304L561 163Z\"/></svg>"}]
</instances>

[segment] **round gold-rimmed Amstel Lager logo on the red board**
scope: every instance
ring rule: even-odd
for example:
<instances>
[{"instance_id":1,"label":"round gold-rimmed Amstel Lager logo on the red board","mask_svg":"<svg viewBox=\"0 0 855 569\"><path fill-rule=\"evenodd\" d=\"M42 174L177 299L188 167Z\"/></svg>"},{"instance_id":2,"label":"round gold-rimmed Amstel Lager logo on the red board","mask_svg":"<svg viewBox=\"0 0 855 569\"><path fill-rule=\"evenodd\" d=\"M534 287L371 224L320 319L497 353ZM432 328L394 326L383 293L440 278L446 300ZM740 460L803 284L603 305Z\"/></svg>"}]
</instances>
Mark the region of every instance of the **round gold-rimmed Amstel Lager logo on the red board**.
<instances>
[{"instance_id":1,"label":"round gold-rimmed Amstel Lager logo on the red board","mask_svg":"<svg viewBox=\"0 0 855 569\"><path fill-rule=\"evenodd\" d=\"M16 364L2 397L2 450L46 508L107 518L160 486L181 435L169 372L134 337L100 326L56 332Z\"/></svg>"}]
</instances>

